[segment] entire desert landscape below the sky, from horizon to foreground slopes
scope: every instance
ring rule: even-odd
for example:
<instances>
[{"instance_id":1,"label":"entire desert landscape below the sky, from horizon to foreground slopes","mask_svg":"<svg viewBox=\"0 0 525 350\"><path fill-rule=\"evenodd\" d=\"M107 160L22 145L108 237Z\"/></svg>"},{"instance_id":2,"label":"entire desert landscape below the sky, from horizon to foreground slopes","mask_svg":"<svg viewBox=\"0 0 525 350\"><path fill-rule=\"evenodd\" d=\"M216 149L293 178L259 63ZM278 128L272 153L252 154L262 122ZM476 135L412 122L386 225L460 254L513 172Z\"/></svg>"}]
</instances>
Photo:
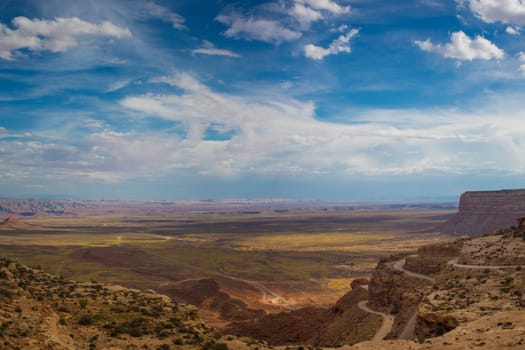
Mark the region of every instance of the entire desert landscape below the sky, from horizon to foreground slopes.
<instances>
[{"instance_id":1,"label":"entire desert landscape below the sky, from horizon to foreground slopes","mask_svg":"<svg viewBox=\"0 0 525 350\"><path fill-rule=\"evenodd\" d=\"M3 346L519 348L524 194L4 200Z\"/></svg>"}]
</instances>

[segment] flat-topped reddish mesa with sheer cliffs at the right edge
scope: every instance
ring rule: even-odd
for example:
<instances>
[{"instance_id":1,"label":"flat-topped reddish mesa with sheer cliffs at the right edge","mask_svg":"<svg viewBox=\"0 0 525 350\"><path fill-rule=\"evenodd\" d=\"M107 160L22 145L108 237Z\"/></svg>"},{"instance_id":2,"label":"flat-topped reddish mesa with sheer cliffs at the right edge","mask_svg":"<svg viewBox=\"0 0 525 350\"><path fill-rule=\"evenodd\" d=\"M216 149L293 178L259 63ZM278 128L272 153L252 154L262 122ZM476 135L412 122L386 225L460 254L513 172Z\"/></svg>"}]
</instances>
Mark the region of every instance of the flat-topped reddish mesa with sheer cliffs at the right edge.
<instances>
[{"instance_id":1,"label":"flat-topped reddish mesa with sheer cliffs at the right edge","mask_svg":"<svg viewBox=\"0 0 525 350\"><path fill-rule=\"evenodd\" d=\"M434 230L453 235L481 235L516 225L525 214L525 189L465 192L458 213Z\"/></svg>"}]
</instances>

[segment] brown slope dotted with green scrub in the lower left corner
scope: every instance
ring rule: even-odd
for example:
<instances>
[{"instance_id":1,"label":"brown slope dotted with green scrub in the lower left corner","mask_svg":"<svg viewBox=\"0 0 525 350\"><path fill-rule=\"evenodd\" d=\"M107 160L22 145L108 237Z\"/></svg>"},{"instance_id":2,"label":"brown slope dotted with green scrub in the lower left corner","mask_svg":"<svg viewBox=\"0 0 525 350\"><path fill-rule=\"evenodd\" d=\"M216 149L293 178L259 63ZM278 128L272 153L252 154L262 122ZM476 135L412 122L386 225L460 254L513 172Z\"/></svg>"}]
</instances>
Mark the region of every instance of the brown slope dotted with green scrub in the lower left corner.
<instances>
[{"instance_id":1,"label":"brown slope dotted with green scrub in the lower left corner","mask_svg":"<svg viewBox=\"0 0 525 350\"><path fill-rule=\"evenodd\" d=\"M3 258L0 310L2 349L250 348L206 326L194 306L152 291L68 281Z\"/></svg>"}]
</instances>

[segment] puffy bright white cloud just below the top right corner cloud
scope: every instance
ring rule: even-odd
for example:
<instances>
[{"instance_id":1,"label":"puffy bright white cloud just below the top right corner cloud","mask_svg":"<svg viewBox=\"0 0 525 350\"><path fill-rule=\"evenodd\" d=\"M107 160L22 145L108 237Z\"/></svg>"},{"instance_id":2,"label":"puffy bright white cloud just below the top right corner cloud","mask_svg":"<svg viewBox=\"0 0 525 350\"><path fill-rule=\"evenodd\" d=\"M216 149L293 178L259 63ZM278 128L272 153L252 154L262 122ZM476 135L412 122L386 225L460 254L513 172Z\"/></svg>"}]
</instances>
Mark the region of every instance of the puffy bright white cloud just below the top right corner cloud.
<instances>
[{"instance_id":1,"label":"puffy bright white cloud just below the top right corner cloud","mask_svg":"<svg viewBox=\"0 0 525 350\"><path fill-rule=\"evenodd\" d=\"M505 52L482 36L469 38L464 32L452 33L450 43L434 44L430 39L416 40L415 44L423 51L435 52L447 58L472 61L474 59L490 60L503 58Z\"/></svg>"}]
</instances>

